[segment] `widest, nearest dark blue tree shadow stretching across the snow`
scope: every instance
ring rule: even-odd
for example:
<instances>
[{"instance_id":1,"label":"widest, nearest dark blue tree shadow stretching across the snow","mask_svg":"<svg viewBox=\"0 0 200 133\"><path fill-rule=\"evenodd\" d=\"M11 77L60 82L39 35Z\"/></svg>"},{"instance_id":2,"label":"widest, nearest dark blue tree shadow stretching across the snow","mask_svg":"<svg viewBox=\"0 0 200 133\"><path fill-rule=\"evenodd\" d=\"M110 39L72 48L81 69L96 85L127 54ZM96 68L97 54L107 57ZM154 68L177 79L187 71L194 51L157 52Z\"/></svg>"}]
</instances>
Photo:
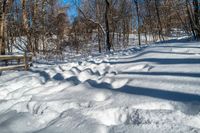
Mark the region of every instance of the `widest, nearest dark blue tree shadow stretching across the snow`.
<instances>
[{"instance_id":1,"label":"widest, nearest dark blue tree shadow stretching across the snow","mask_svg":"<svg viewBox=\"0 0 200 133\"><path fill-rule=\"evenodd\" d=\"M116 92L122 92L127 94L148 96L153 98L178 101L178 102L200 102L200 95L198 94L189 94L183 92L169 91L169 90L160 90L155 88L143 88L143 87L134 87L125 85L119 89L113 89L112 86L108 83L98 84L94 80L87 81L92 87L98 89L108 89Z\"/></svg>"}]
</instances>

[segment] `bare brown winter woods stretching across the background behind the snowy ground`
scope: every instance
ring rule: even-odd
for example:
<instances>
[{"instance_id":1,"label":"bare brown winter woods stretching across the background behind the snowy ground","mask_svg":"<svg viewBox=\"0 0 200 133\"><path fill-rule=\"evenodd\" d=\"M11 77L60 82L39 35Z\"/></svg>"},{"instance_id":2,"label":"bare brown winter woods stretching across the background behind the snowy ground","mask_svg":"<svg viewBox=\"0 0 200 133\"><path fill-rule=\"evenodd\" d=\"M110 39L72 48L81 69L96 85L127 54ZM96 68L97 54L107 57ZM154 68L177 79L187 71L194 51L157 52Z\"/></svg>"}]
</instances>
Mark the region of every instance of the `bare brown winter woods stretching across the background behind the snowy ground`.
<instances>
[{"instance_id":1,"label":"bare brown winter woods stretching across the background behind the snowy ground","mask_svg":"<svg viewBox=\"0 0 200 133\"><path fill-rule=\"evenodd\" d=\"M164 41L180 35L200 39L199 0L3 0L1 55L17 50L45 58ZM68 9L77 15L69 18ZM68 13L67 13L68 12ZM130 35L134 36L130 38Z\"/></svg>"}]
</instances>

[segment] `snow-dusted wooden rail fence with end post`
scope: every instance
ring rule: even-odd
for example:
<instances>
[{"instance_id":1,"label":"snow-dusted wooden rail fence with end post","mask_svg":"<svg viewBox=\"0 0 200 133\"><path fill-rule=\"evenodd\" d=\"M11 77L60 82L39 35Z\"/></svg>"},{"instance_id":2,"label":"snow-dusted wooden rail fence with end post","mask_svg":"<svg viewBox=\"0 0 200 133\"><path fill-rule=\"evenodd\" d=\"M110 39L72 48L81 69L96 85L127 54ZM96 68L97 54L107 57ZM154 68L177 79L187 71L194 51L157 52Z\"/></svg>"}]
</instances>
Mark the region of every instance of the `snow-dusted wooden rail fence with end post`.
<instances>
[{"instance_id":1,"label":"snow-dusted wooden rail fence with end post","mask_svg":"<svg viewBox=\"0 0 200 133\"><path fill-rule=\"evenodd\" d=\"M14 60L16 61L15 65L12 65L12 62L11 65L8 64L8 61ZM28 70L30 67L29 62L32 62L32 56L27 55L26 53L24 55L0 55L0 62L5 62L5 66L0 66L0 71L18 68L24 68L25 70Z\"/></svg>"}]
</instances>

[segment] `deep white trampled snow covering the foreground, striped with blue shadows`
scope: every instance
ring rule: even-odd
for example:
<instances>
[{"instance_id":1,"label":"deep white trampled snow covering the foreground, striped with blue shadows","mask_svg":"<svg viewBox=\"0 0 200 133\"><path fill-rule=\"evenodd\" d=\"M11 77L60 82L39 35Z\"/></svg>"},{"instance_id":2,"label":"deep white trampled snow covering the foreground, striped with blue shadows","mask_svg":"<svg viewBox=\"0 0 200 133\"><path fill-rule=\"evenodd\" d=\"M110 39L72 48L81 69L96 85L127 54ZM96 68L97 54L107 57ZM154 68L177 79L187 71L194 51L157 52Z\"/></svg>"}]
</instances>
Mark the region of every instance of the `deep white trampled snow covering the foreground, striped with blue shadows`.
<instances>
[{"instance_id":1,"label":"deep white trampled snow covering the foreground, striped with blue shadows","mask_svg":"<svg viewBox=\"0 0 200 133\"><path fill-rule=\"evenodd\" d=\"M200 44L3 72L0 133L32 132L200 132Z\"/></svg>"}]
</instances>

